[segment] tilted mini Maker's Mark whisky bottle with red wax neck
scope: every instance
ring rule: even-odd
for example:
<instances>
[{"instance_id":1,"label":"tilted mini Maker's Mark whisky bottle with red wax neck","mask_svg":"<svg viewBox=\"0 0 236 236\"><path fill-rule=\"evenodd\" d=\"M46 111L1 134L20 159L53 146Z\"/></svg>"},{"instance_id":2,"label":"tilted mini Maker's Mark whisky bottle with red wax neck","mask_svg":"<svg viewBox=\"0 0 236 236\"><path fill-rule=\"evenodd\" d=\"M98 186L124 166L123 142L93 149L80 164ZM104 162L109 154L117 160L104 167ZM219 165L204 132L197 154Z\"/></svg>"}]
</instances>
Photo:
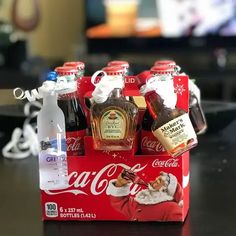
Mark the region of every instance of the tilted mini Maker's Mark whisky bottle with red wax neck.
<instances>
[{"instance_id":1,"label":"tilted mini Maker's Mark whisky bottle with red wax neck","mask_svg":"<svg viewBox=\"0 0 236 236\"><path fill-rule=\"evenodd\" d=\"M184 110L166 107L155 91L147 93L145 98L154 117L152 132L171 156L179 156L197 145L196 133Z\"/></svg>"}]
</instances>

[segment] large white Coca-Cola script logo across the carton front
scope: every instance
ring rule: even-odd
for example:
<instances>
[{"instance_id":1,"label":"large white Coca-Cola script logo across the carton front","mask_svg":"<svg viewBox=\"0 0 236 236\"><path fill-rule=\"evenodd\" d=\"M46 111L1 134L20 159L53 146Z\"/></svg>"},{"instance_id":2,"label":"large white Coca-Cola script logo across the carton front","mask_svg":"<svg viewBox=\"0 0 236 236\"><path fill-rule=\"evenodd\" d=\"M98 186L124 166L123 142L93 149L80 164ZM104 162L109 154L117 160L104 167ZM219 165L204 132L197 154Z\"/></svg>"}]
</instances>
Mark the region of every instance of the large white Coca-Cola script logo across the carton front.
<instances>
[{"instance_id":1,"label":"large white Coca-Cola script logo across the carton front","mask_svg":"<svg viewBox=\"0 0 236 236\"><path fill-rule=\"evenodd\" d=\"M69 186L67 189L54 191L45 190L45 192L49 195L62 193L72 193L74 195L100 195L106 193L110 195L108 188L109 182L112 179L116 179L122 169L132 169L138 173L145 169L146 166L147 165L142 166L141 164L128 166L123 163L112 163L104 166L100 171L83 171L81 173L73 171L69 175ZM134 184L130 189L130 194L135 195L140 189L139 185Z\"/></svg>"}]
</instances>

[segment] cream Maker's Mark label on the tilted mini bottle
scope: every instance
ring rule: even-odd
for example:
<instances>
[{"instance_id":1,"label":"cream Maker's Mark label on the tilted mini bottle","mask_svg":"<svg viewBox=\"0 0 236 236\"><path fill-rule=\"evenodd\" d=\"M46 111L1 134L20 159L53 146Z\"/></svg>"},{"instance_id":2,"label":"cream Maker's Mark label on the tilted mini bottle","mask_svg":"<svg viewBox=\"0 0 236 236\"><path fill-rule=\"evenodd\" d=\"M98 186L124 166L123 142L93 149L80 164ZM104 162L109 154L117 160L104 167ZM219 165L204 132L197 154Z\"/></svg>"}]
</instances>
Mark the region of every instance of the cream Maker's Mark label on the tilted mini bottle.
<instances>
[{"instance_id":1,"label":"cream Maker's Mark label on the tilted mini bottle","mask_svg":"<svg viewBox=\"0 0 236 236\"><path fill-rule=\"evenodd\" d=\"M196 133L188 114L181 115L153 131L163 147L171 155L188 150L188 146L197 142Z\"/></svg>"}]
</instances>

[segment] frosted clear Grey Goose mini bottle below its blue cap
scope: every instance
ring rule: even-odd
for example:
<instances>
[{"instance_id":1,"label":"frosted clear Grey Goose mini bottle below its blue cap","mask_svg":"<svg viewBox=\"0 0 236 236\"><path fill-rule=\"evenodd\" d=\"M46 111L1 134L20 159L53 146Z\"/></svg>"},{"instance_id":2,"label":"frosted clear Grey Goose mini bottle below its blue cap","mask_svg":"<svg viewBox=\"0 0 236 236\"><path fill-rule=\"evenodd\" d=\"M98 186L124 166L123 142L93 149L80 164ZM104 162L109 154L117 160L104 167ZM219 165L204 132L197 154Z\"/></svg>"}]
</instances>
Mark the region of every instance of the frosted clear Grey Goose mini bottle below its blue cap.
<instances>
[{"instance_id":1,"label":"frosted clear Grey Goose mini bottle below its blue cap","mask_svg":"<svg viewBox=\"0 0 236 236\"><path fill-rule=\"evenodd\" d=\"M68 187L64 120L56 95L44 94L43 107L37 117L40 188L43 190Z\"/></svg>"}]
</instances>

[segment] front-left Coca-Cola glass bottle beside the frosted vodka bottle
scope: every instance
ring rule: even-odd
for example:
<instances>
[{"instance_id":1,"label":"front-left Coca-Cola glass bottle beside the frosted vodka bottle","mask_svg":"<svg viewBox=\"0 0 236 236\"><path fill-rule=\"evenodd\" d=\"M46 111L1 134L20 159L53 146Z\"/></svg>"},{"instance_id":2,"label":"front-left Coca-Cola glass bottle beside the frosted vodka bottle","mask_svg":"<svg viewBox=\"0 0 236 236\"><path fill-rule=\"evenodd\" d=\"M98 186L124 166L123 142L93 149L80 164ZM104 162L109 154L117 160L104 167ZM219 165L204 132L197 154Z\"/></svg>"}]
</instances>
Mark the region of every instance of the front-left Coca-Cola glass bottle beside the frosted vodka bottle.
<instances>
[{"instance_id":1,"label":"front-left Coca-Cola glass bottle beside the frosted vodka bottle","mask_svg":"<svg viewBox=\"0 0 236 236\"><path fill-rule=\"evenodd\" d=\"M58 78L65 78L68 86L58 95L58 106L62 109L66 124L66 143L68 156L84 155L84 136L87 131L87 120L80 105L76 74L74 67L57 67Z\"/></svg>"}]
</instances>

